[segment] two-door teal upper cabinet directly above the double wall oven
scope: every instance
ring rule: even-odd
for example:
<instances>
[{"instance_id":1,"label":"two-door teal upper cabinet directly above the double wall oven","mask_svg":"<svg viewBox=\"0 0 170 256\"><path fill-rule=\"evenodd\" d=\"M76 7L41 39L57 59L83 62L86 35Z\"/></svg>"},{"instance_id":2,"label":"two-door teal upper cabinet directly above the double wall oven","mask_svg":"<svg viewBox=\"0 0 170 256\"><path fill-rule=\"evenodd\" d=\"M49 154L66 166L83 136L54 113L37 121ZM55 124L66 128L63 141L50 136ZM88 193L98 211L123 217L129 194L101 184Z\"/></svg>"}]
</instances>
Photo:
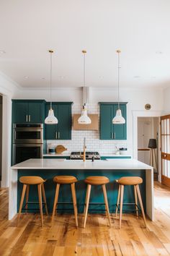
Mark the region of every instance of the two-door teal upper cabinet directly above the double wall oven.
<instances>
[{"instance_id":1,"label":"two-door teal upper cabinet directly above the double wall oven","mask_svg":"<svg viewBox=\"0 0 170 256\"><path fill-rule=\"evenodd\" d=\"M12 100L12 121L17 124L42 124L45 118L45 101Z\"/></svg>"}]
</instances>

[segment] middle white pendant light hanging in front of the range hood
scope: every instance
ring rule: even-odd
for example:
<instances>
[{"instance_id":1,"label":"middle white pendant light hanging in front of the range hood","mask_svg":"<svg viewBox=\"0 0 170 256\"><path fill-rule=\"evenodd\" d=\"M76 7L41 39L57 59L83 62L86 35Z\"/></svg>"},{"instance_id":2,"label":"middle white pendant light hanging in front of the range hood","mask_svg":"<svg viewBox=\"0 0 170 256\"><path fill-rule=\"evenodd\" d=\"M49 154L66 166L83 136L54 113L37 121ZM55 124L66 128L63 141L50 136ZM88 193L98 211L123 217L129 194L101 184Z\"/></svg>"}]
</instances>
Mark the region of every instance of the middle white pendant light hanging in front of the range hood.
<instances>
[{"instance_id":1,"label":"middle white pendant light hanging in front of the range hood","mask_svg":"<svg viewBox=\"0 0 170 256\"><path fill-rule=\"evenodd\" d=\"M84 88L85 88L85 85L86 85L86 80L85 80L85 67L86 67L86 63L85 63L85 60L86 60L86 51L83 50L82 53L84 54ZM84 103L83 105L83 109L81 111L81 116L79 117L78 119L78 123L79 124L91 124L91 119L89 118L89 116L87 115L87 108L86 108L86 103Z\"/></svg>"}]
</instances>

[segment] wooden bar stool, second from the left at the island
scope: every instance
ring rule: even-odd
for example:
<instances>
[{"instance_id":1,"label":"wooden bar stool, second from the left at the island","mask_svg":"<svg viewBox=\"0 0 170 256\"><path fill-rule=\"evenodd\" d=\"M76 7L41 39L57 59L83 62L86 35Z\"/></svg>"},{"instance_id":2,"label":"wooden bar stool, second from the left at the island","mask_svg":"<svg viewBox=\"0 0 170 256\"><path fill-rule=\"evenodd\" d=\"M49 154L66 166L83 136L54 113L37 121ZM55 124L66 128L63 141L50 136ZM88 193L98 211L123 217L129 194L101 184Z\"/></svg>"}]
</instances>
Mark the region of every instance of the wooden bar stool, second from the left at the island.
<instances>
[{"instance_id":1,"label":"wooden bar stool, second from the left at the island","mask_svg":"<svg viewBox=\"0 0 170 256\"><path fill-rule=\"evenodd\" d=\"M76 189L75 189L75 183L78 182L75 176L55 176L53 178L53 181L56 182L56 190L55 190L55 199L53 204L53 215L52 215L52 221L55 216L55 211L57 210L57 205L62 204L64 202L58 202L58 195L59 195L59 189L61 184L70 184L71 185L71 194L73 198L73 210L74 210L74 216L76 221L76 227L78 226L78 214L77 214L77 202L76 202ZM70 202L66 202L70 203Z\"/></svg>"}]
</instances>

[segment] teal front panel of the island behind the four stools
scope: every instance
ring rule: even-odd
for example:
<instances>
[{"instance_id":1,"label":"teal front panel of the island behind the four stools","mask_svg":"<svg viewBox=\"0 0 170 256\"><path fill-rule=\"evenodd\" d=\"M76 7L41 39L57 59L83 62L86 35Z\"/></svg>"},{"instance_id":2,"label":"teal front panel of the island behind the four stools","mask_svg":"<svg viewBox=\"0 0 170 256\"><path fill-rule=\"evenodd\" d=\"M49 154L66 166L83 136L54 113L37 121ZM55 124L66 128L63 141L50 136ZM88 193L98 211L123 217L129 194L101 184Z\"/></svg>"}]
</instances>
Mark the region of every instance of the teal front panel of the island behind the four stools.
<instances>
[{"instance_id":1,"label":"teal front panel of the island behind the four stools","mask_svg":"<svg viewBox=\"0 0 170 256\"><path fill-rule=\"evenodd\" d=\"M120 179L122 176L140 176L143 179L143 184L140 184L140 192L143 199L143 206L146 210L146 171L143 170L18 170L18 187L17 187L17 209L19 209L19 202L22 195L22 184L19 182L21 176L41 176L43 179L47 179L45 182L45 195L47 198L48 210L52 213L53 202L55 197L55 186L53 177L56 175L73 175L76 176L78 182L76 182L76 197L79 213L84 212L84 202L86 196L86 184L84 179L87 176L107 176L109 178L109 184L106 185L107 197L109 202L110 213L115 213L115 204L117 202L118 185L115 179ZM37 186L30 186L30 202L37 201ZM134 202L134 190L133 186L125 186L124 202ZM72 202L71 198L71 186L68 184L61 185L58 202ZM102 193L102 186L91 186L90 202L104 202ZM28 208L34 208L35 205L29 205ZM38 209L38 205L36 206ZM90 210L91 209L91 210ZM124 206L123 211L127 212L132 209L132 205ZM135 208L133 208L134 210ZM36 210L30 210L37 212ZM24 212L24 210L23 210ZM91 213L104 213L104 205L89 205L89 212ZM58 205L58 213L73 213L73 205Z\"/></svg>"}]
</instances>

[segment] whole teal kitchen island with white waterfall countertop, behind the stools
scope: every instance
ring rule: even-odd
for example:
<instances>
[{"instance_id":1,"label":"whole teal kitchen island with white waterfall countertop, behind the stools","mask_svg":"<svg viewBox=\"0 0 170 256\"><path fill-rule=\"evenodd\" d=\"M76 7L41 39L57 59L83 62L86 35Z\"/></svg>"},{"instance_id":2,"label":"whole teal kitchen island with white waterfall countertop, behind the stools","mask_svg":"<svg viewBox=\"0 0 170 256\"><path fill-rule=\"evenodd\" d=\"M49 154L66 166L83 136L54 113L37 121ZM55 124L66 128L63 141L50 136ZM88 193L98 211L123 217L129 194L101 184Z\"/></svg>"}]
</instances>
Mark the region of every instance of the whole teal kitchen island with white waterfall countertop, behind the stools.
<instances>
[{"instance_id":1,"label":"whole teal kitchen island with white waterfall countertop, behind the stools","mask_svg":"<svg viewBox=\"0 0 170 256\"><path fill-rule=\"evenodd\" d=\"M87 176L107 176L107 197L110 213L115 213L117 201L117 184L115 179L122 176L140 176L143 184L140 184L140 192L147 216L153 220L153 168L134 159L107 159L97 161L66 160L66 159L29 159L15 166L12 166L9 187L9 219L13 218L19 207L19 200L22 192L22 184L19 183L20 176L41 176L47 179L45 182L45 195L47 197L48 209L51 212L55 196L55 183L53 177L56 175L73 175L79 182L76 183L77 205L79 213L84 210L86 195L86 184L84 179ZM91 190L92 202L103 202L102 188L93 186ZM37 200L37 187L30 189L30 201ZM71 200L69 186L61 187L59 201L68 202ZM125 187L124 202L134 202L133 187ZM69 205L59 205L58 212L72 213ZM104 205L91 205L92 213L103 212ZM124 208L128 210L128 208Z\"/></svg>"}]
</instances>

